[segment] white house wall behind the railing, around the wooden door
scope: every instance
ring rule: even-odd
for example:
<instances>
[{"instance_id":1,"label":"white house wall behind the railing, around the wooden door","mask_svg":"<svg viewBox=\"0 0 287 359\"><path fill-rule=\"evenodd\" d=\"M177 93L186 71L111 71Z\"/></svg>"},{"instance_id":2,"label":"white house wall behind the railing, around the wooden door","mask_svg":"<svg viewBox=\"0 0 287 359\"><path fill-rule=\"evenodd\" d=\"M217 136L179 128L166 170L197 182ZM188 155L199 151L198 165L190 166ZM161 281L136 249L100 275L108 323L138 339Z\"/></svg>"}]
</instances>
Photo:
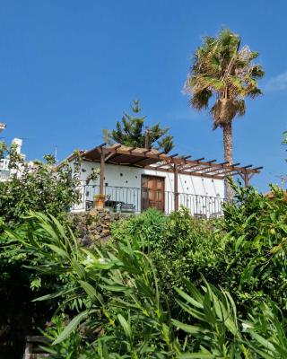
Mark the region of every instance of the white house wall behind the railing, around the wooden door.
<instances>
[{"instance_id":1,"label":"white house wall behind the railing, around the wooden door","mask_svg":"<svg viewBox=\"0 0 287 359\"><path fill-rule=\"evenodd\" d=\"M72 163L73 165L73 163ZM99 162L82 163L81 180L83 186L92 169L100 169ZM105 194L111 200L134 204L136 212L141 211L141 177L151 175L165 178L165 212L174 210L174 175L170 172L147 170L124 165L105 164ZM99 193L100 179L83 188L83 203L92 200ZM224 197L223 180L206 179L191 175L178 174L179 206L187 206L192 215L220 214ZM75 210L83 209L83 205Z\"/></svg>"}]
</instances>

